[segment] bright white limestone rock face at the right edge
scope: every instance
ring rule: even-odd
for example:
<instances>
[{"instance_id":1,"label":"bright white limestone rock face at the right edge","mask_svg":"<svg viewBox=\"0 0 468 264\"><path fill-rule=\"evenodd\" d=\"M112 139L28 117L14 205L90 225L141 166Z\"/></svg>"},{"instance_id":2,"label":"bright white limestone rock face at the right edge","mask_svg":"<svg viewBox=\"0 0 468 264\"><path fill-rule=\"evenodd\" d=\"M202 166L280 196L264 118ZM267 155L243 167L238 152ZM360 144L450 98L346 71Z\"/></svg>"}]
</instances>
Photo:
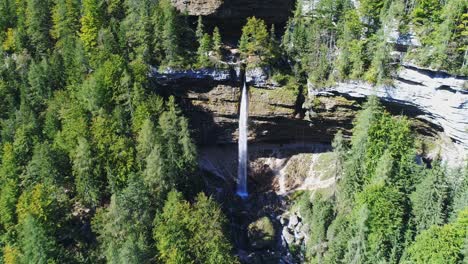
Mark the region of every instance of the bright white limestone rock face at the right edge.
<instances>
[{"instance_id":1,"label":"bright white limestone rock face at the right edge","mask_svg":"<svg viewBox=\"0 0 468 264\"><path fill-rule=\"evenodd\" d=\"M309 87L309 95L341 95L348 99L376 94L400 112L439 127L461 149L468 150L468 78L403 65L393 86L362 82L340 83L325 90ZM464 151L463 151L464 149ZM464 158L464 155L460 157Z\"/></svg>"}]
</instances>

